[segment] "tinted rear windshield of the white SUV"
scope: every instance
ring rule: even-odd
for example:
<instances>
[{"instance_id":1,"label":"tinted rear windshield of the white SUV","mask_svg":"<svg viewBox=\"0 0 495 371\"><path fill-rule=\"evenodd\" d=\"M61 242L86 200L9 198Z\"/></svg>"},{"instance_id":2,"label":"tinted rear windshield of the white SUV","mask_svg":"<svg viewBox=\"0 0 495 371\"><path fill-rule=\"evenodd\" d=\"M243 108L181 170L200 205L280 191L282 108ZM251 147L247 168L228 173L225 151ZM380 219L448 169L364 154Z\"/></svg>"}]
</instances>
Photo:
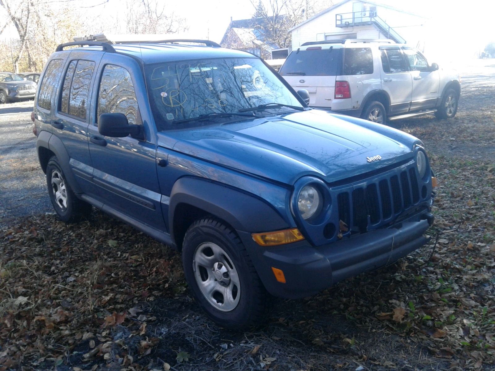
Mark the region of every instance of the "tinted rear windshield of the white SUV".
<instances>
[{"instance_id":1,"label":"tinted rear windshield of the white SUV","mask_svg":"<svg viewBox=\"0 0 495 371\"><path fill-rule=\"evenodd\" d=\"M373 68L373 67L372 67ZM342 69L342 49L293 51L280 69L282 76L337 76Z\"/></svg>"}]
</instances>

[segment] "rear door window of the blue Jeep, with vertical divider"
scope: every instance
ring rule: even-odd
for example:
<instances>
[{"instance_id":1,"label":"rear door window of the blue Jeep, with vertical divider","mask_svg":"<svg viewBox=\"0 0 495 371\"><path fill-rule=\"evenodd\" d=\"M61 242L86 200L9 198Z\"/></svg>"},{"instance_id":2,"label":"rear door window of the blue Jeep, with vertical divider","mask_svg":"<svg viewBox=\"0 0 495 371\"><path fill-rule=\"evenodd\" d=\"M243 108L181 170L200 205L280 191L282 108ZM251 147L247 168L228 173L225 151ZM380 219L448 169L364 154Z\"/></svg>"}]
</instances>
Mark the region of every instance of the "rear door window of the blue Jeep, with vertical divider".
<instances>
[{"instance_id":1,"label":"rear door window of the blue Jeep, with vertical divider","mask_svg":"<svg viewBox=\"0 0 495 371\"><path fill-rule=\"evenodd\" d=\"M91 60L73 60L65 74L60 111L71 116L86 119L91 79L95 71L95 62Z\"/></svg>"}]
</instances>

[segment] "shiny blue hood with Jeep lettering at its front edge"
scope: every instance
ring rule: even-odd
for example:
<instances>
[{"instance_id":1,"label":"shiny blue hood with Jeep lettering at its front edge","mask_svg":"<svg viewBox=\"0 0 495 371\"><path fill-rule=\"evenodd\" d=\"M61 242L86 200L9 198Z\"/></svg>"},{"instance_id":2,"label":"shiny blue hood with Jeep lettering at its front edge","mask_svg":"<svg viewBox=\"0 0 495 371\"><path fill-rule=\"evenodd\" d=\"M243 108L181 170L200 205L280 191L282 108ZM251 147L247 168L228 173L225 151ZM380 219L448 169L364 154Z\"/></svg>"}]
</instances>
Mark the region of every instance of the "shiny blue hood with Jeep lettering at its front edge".
<instances>
[{"instance_id":1,"label":"shiny blue hood with Jeep lettering at its front edge","mask_svg":"<svg viewBox=\"0 0 495 371\"><path fill-rule=\"evenodd\" d=\"M304 175L330 183L394 164L412 157L415 142L396 129L320 110L158 134L163 147L288 185Z\"/></svg>"}]
</instances>

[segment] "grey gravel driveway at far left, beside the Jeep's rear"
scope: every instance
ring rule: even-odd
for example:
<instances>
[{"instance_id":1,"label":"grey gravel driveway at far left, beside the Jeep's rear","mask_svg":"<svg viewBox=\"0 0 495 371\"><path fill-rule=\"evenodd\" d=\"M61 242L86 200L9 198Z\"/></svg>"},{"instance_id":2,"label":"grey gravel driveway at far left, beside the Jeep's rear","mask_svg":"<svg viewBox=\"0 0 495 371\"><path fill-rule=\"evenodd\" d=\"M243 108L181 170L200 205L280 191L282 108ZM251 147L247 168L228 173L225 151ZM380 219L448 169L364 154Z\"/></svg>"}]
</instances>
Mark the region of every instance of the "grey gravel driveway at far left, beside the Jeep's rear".
<instances>
[{"instance_id":1,"label":"grey gravel driveway at far left, beside the Jeep's rear","mask_svg":"<svg viewBox=\"0 0 495 371\"><path fill-rule=\"evenodd\" d=\"M0 226L53 211L36 154L32 111L32 100L0 106Z\"/></svg>"}]
</instances>

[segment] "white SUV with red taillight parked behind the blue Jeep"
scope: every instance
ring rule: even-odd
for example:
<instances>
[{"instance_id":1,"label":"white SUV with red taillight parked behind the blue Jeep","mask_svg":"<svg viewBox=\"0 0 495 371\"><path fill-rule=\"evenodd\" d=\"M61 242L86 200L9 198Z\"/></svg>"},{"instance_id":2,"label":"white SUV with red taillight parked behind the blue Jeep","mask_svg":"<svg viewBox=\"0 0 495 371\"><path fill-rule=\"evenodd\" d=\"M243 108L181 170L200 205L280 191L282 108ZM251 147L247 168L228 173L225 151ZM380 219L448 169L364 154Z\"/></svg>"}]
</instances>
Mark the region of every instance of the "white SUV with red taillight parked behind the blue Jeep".
<instances>
[{"instance_id":1,"label":"white SUV with red taillight parked behind the blue Jeep","mask_svg":"<svg viewBox=\"0 0 495 371\"><path fill-rule=\"evenodd\" d=\"M280 74L296 91L308 91L312 107L383 124L427 113L452 118L461 92L457 73L383 39L304 43Z\"/></svg>"}]
</instances>

